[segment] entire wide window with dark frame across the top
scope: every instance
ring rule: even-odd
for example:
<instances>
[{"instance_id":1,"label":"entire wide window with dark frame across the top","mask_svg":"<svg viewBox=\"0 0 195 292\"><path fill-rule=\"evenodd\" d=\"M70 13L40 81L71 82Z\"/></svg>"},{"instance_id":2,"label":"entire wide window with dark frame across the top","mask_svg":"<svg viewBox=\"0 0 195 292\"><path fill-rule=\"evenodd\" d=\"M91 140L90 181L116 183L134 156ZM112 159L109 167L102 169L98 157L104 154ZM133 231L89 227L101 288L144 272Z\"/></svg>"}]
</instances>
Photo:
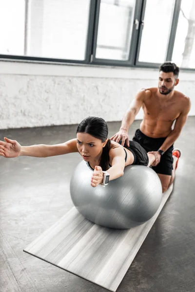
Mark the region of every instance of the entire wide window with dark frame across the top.
<instances>
[{"instance_id":1,"label":"entire wide window with dark frame across the top","mask_svg":"<svg viewBox=\"0 0 195 292\"><path fill-rule=\"evenodd\" d=\"M195 0L0 0L0 40L0 58L195 69Z\"/></svg>"}]
</instances>

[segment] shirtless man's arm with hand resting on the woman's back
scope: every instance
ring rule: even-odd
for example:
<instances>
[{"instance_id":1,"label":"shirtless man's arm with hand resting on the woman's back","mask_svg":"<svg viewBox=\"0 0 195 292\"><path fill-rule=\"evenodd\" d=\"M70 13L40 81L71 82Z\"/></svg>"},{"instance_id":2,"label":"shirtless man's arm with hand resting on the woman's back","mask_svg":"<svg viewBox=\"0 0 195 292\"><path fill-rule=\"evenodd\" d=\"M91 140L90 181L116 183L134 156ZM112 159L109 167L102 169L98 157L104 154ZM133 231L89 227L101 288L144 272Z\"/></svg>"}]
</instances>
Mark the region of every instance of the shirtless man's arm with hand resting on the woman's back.
<instances>
[{"instance_id":1,"label":"shirtless man's arm with hand resting on the woman's back","mask_svg":"<svg viewBox=\"0 0 195 292\"><path fill-rule=\"evenodd\" d=\"M135 117L143 104L145 96L146 96L145 89L137 93L135 99L130 104L129 109L126 111L122 119L122 123L121 123L121 127L119 131L113 137L110 138L111 140L116 141L117 143L120 140L122 140L122 143L121 143L122 146L124 145L125 142L127 146L129 146L128 129L134 122Z\"/></svg>"}]
</instances>

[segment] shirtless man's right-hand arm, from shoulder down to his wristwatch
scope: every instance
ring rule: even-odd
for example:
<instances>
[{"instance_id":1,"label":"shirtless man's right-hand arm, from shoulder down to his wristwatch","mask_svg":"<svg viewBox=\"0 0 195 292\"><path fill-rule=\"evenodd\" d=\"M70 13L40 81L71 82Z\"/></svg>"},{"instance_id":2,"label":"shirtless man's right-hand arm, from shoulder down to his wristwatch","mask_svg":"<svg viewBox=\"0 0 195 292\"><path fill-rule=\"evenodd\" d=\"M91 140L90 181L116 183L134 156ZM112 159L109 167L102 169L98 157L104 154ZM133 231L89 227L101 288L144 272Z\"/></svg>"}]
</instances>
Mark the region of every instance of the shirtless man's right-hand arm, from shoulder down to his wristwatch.
<instances>
[{"instance_id":1,"label":"shirtless man's right-hand arm, from shoulder down to his wristwatch","mask_svg":"<svg viewBox=\"0 0 195 292\"><path fill-rule=\"evenodd\" d=\"M164 141L164 143L162 144L162 146L159 148L160 150L162 150L162 151L165 152L165 151L167 151L167 149L170 146L172 146L174 144L174 142L176 141L176 139L179 137L183 126L186 123L186 120L187 120L187 117L188 117L188 113L190 111L190 108L191 108L190 99L187 98L187 100L186 100L186 106L185 106L184 110L180 113L180 115L176 119L176 123L175 123L174 129L167 136L167 139Z\"/></svg>"}]
</instances>

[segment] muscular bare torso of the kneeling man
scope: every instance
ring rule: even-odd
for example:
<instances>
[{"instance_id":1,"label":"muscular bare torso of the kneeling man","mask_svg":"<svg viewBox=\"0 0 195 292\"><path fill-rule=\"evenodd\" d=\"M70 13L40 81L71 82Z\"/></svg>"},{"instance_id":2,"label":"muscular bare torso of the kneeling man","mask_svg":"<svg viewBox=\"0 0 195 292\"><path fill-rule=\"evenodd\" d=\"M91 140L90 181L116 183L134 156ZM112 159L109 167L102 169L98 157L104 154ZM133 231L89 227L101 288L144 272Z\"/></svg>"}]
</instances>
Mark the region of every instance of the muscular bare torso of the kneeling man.
<instances>
[{"instance_id":1,"label":"muscular bare torso of the kneeling man","mask_svg":"<svg viewBox=\"0 0 195 292\"><path fill-rule=\"evenodd\" d=\"M148 137L167 137L174 121L186 107L187 97L179 91L174 91L172 97L158 93L158 88L145 89L142 105L144 117L140 130Z\"/></svg>"}]
</instances>

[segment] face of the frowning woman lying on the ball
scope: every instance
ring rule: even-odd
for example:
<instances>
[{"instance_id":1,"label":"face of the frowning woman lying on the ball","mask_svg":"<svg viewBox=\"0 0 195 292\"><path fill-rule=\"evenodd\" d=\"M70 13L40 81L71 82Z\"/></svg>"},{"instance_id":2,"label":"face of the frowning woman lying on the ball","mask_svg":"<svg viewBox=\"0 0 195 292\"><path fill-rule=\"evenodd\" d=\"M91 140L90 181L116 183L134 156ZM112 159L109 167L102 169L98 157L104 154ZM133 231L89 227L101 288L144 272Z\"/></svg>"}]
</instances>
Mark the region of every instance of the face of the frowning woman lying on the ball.
<instances>
[{"instance_id":1,"label":"face of the frowning woman lying on the ball","mask_svg":"<svg viewBox=\"0 0 195 292\"><path fill-rule=\"evenodd\" d=\"M106 143L107 140L101 142L100 139L88 133L77 133L77 148L84 161L100 159L102 148Z\"/></svg>"}]
</instances>

